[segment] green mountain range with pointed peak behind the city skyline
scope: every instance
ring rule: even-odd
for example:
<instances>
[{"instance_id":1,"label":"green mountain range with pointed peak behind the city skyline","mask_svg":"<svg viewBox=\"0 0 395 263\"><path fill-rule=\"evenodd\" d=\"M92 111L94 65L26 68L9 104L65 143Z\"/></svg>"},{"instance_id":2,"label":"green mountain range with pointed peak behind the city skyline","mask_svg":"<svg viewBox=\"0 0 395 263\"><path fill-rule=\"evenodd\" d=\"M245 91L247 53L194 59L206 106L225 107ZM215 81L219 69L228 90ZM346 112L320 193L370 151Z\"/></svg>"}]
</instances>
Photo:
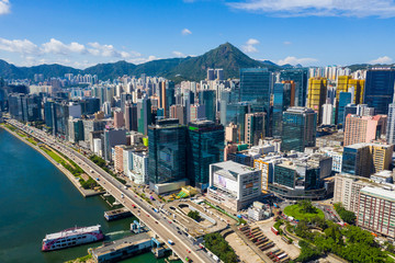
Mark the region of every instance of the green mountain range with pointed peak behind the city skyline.
<instances>
[{"instance_id":1,"label":"green mountain range with pointed peak behind the city skyline","mask_svg":"<svg viewBox=\"0 0 395 263\"><path fill-rule=\"evenodd\" d=\"M101 80L127 76L166 77L172 80L202 80L206 77L207 68L224 69L225 78L238 78L240 68L266 67L279 70L282 67L269 60L255 60L240 52L230 43L219 45L201 56L185 58L169 58L134 65L126 61L99 64L84 70L61 65L40 65L34 67L15 67L0 59L0 77L4 79L33 79L35 73L43 73L44 78L63 77L65 73L97 75Z\"/></svg>"}]
</instances>

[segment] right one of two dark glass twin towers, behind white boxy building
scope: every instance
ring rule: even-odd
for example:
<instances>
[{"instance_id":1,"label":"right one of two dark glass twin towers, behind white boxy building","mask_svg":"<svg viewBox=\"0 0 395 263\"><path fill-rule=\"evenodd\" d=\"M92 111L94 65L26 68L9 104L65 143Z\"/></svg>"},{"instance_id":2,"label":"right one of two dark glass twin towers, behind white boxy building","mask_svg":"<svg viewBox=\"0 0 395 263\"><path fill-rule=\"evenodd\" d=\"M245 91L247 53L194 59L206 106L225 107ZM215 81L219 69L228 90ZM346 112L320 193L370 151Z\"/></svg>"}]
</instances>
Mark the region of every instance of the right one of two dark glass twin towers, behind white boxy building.
<instances>
[{"instance_id":1,"label":"right one of two dark glass twin towers, behind white boxy building","mask_svg":"<svg viewBox=\"0 0 395 263\"><path fill-rule=\"evenodd\" d=\"M210 164L224 159L224 126L199 121L189 123L187 130L188 178L191 185L206 190Z\"/></svg>"}]
</instances>

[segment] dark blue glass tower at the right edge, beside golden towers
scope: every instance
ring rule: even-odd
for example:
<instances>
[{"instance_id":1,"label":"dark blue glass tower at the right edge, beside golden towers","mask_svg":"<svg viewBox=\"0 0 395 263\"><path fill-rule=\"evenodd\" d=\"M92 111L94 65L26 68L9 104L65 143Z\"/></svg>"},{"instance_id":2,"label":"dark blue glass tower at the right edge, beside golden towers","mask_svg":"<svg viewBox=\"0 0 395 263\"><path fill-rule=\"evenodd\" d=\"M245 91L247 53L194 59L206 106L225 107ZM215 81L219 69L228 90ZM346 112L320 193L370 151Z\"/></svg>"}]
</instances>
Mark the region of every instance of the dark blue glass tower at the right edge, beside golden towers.
<instances>
[{"instance_id":1,"label":"dark blue glass tower at the right edge, beside golden towers","mask_svg":"<svg viewBox=\"0 0 395 263\"><path fill-rule=\"evenodd\" d=\"M373 68L366 71L364 103L374 107L376 114L387 114L394 98L394 68Z\"/></svg>"}]
</instances>

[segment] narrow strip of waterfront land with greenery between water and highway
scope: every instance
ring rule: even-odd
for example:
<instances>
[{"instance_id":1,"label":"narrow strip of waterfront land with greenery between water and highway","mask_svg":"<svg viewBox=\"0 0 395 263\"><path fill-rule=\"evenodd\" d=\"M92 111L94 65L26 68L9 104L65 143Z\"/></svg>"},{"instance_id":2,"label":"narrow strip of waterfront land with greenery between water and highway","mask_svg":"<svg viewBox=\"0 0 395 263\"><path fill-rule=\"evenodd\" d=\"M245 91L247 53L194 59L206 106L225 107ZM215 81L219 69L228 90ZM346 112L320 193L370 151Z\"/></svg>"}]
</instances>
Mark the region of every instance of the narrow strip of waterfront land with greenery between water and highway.
<instances>
[{"instance_id":1,"label":"narrow strip of waterfront land with greenery between water and highway","mask_svg":"<svg viewBox=\"0 0 395 263\"><path fill-rule=\"evenodd\" d=\"M11 124L9 124L11 125ZM14 126L13 126L14 127ZM5 132L8 132L9 134L11 134L12 136L16 137L18 139L20 139L21 141L25 142L27 146L30 146L31 148L33 148L34 150L36 150L38 153L41 153L44 158L46 158L50 163L53 163L63 174L65 174L67 176L67 179L75 185L75 187L80 192L80 194L83 197L90 197L90 196L95 196L95 195L100 195L103 194L104 192L91 192L91 191L87 191L84 190L80 184L79 184L79 180L76 180L76 176L71 174L70 171L68 171L66 168L64 168L60 163L56 162L54 159L52 159L45 151L43 151L42 149L40 149L40 147L31 144L30 141L27 141L26 139L22 138L21 136L19 136L18 134L15 134L15 132L10 130L8 127L0 125L0 128L4 129ZM16 128L16 127L15 127ZM16 128L18 130L20 130L19 128ZM43 144L43 142L42 142Z\"/></svg>"}]
</instances>

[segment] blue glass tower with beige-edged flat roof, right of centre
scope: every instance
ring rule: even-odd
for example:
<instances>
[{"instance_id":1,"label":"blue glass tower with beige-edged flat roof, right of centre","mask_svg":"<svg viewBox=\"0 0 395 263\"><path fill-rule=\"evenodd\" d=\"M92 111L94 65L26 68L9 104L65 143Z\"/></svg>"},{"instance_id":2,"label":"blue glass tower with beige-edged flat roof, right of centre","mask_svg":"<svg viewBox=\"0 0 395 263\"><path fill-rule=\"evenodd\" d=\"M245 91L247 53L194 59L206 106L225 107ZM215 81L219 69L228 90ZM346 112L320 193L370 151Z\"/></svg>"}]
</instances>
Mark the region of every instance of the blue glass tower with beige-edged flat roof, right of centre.
<instances>
[{"instance_id":1,"label":"blue glass tower with beige-edged flat roof, right of centre","mask_svg":"<svg viewBox=\"0 0 395 263\"><path fill-rule=\"evenodd\" d=\"M283 113L283 151L304 151L314 147L316 140L317 114L308 107L290 107Z\"/></svg>"}]
</instances>

